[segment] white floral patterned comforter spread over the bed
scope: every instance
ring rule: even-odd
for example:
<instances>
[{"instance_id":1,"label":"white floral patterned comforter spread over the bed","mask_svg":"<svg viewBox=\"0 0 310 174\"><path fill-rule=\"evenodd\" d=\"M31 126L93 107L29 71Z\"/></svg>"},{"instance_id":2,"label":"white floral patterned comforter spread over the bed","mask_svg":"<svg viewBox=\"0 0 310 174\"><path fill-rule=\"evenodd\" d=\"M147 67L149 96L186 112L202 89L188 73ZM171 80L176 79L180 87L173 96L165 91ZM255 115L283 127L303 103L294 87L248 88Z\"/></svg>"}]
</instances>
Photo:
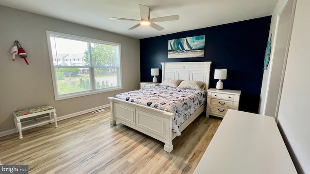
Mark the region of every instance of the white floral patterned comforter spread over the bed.
<instances>
[{"instance_id":1,"label":"white floral patterned comforter spread over the bed","mask_svg":"<svg viewBox=\"0 0 310 174\"><path fill-rule=\"evenodd\" d=\"M155 86L120 93L116 98L173 113L172 131L180 136L179 127L205 103L206 91Z\"/></svg>"}]
</instances>

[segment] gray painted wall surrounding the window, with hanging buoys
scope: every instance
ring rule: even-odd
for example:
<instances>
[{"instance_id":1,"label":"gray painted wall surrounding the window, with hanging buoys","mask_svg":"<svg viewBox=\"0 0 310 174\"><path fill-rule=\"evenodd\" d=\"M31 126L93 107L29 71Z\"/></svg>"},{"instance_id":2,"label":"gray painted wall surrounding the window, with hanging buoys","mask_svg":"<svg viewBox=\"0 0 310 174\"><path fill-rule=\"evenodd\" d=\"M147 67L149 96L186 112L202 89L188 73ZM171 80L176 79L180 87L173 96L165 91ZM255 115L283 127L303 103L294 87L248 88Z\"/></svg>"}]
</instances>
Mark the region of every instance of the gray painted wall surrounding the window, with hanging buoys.
<instances>
[{"instance_id":1,"label":"gray painted wall surrounding the window, with hanging buoys","mask_svg":"<svg viewBox=\"0 0 310 174\"><path fill-rule=\"evenodd\" d=\"M100 22L100 21L98 21ZM55 101L46 30L121 43L123 89ZM15 40L25 49L29 65L10 50ZM13 112L49 104L57 116L109 104L118 93L140 88L139 40L46 16L0 6L0 132L15 129Z\"/></svg>"}]
</instances>

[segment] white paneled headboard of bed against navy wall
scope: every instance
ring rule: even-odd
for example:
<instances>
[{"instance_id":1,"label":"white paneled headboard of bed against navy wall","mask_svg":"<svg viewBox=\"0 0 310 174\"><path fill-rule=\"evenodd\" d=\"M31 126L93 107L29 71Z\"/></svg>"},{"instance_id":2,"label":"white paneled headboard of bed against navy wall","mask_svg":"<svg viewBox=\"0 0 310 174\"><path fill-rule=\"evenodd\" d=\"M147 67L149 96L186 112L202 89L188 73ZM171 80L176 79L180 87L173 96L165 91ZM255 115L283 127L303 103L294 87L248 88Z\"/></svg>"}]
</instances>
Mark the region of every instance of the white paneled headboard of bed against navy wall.
<instances>
[{"instance_id":1,"label":"white paneled headboard of bed against navy wall","mask_svg":"<svg viewBox=\"0 0 310 174\"><path fill-rule=\"evenodd\" d=\"M210 65L212 62L161 62L161 80L182 79L197 80L205 83L209 89Z\"/></svg>"}]
</instances>

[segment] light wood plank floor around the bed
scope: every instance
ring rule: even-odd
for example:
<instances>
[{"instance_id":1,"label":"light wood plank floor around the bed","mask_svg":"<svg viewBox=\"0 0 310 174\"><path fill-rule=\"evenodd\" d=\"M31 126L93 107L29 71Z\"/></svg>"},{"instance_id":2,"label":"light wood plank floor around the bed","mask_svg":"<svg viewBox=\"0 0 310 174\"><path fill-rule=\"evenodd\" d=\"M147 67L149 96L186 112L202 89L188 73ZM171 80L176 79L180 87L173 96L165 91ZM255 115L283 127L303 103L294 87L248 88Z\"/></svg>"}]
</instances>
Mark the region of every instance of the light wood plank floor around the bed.
<instances>
[{"instance_id":1,"label":"light wood plank floor around the bed","mask_svg":"<svg viewBox=\"0 0 310 174\"><path fill-rule=\"evenodd\" d=\"M110 109L0 137L3 164L27 164L30 174L192 174L221 119L199 116L173 151L164 143L120 123L109 124Z\"/></svg>"}]
</instances>

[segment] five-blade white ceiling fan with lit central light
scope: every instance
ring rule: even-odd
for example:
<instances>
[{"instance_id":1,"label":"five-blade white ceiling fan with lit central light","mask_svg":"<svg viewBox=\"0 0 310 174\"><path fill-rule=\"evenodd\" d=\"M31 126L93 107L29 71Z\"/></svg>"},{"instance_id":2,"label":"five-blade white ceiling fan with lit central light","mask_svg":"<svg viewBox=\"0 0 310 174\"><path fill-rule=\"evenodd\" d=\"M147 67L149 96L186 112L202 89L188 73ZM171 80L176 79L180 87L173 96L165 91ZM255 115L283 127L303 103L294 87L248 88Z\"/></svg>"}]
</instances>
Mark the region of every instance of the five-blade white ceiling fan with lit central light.
<instances>
[{"instance_id":1,"label":"five-blade white ceiling fan with lit central light","mask_svg":"<svg viewBox=\"0 0 310 174\"><path fill-rule=\"evenodd\" d=\"M139 24L129 28L129 29L136 29L140 25L149 25L153 27L154 29L157 29L158 31L163 30L164 28L155 24L154 22L164 22L164 21L173 21L173 20L179 20L179 15L171 15L171 16L164 16L164 17L156 17L150 19L150 8L146 5L139 4L140 8L140 16L141 19L126 19L126 18L119 18L119 17L110 17L110 19L114 20L129 20L129 21L140 21Z\"/></svg>"}]
</instances>

